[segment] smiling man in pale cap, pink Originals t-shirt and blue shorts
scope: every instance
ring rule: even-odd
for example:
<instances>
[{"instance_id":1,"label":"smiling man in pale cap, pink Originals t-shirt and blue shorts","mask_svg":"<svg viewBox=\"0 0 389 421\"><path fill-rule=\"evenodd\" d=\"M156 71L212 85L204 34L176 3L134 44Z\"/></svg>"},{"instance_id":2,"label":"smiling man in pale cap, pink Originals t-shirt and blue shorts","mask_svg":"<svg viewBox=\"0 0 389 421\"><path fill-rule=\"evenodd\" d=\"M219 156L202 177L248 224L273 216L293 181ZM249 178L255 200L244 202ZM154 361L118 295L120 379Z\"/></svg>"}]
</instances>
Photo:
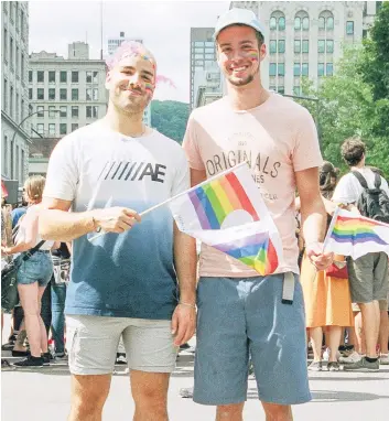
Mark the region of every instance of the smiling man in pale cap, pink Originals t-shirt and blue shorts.
<instances>
[{"instance_id":1,"label":"smiling man in pale cap, pink Originals t-shirt and blue shorts","mask_svg":"<svg viewBox=\"0 0 389 421\"><path fill-rule=\"evenodd\" d=\"M259 277L203 245L194 400L216 404L217 420L240 420L250 355L267 417L291 420L290 406L311 399L303 298L295 282L296 190L306 253L317 270L332 261L322 253L326 214L316 128L305 108L262 87L263 30L251 11L231 9L220 17L215 41L228 95L190 117L183 148L192 185L247 161L280 231L283 261L274 274Z\"/></svg>"}]
</instances>

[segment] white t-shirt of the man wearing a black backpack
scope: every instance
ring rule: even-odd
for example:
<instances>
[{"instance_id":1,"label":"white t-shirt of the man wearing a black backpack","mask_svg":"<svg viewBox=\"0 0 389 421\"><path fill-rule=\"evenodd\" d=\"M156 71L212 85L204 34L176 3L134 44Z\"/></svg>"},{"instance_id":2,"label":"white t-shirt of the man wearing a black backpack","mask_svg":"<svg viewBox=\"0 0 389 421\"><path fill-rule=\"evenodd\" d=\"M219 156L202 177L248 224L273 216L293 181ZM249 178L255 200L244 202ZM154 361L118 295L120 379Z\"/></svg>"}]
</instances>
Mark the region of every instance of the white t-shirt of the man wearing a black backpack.
<instances>
[{"instance_id":1,"label":"white t-shirt of the man wearing a black backpack","mask_svg":"<svg viewBox=\"0 0 389 421\"><path fill-rule=\"evenodd\" d=\"M361 168L357 170L366 180L369 188L375 187L375 173L369 168ZM388 183L381 177L381 190L389 196ZM364 192L364 187L360 185L359 181L353 173L344 175L336 185L334 195L332 197L333 202L336 203L356 203Z\"/></svg>"}]
</instances>

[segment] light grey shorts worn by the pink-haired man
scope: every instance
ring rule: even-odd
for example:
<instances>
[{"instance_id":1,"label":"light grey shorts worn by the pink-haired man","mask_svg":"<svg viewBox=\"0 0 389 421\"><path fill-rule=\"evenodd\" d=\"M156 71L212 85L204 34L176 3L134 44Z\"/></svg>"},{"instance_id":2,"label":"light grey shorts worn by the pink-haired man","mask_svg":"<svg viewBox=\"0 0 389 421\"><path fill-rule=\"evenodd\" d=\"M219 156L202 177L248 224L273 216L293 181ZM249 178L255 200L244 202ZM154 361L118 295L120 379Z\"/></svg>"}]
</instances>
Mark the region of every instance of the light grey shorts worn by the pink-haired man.
<instances>
[{"instance_id":1,"label":"light grey shorts worn by the pink-haired man","mask_svg":"<svg viewBox=\"0 0 389 421\"><path fill-rule=\"evenodd\" d=\"M177 347L169 320L66 316L66 347L73 375L111 374L120 337L128 367L148 373L172 373Z\"/></svg>"}]
</instances>

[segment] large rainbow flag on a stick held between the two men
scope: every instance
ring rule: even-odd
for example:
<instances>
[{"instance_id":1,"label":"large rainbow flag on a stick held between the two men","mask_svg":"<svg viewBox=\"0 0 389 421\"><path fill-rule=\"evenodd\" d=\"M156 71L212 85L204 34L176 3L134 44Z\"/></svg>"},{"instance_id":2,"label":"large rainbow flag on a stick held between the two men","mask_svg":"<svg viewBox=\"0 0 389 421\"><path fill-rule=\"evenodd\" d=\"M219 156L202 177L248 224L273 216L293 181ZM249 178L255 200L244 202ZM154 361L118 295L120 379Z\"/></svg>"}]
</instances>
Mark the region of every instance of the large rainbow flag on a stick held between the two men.
<instances>
[{"instance_id":1,"label":"large rainbow flag on a stick held between the two men","mask_svg":"<svg viewBox=\"0 0 389 421\"><path fill-rule=\"evenodd\" d=\"M183 233L261 276L279 267L281 238L246 163L208 179L169 205Z\"/></svg>"}]
</instances>

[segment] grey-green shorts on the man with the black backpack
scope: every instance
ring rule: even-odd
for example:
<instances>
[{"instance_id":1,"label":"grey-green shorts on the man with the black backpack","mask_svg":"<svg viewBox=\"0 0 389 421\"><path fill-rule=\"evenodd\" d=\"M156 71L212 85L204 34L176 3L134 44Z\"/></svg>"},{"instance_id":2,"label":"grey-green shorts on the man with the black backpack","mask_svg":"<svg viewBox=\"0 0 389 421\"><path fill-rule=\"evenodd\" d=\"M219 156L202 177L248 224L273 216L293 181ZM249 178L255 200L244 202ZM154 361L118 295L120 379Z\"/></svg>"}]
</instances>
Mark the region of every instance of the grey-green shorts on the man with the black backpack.
<instances>
[{"instance_id":1,"label":"grey-green shorts on the man with the black backpack","mask_svg":"<svg viewBox=\"0 0 389 421\"><path fill-rule=\"evenodd\" d=\"M359 259L347 260L353 303L370 303L388 296L388 255L370 252Z\"/></svg>"}]
</instances>

